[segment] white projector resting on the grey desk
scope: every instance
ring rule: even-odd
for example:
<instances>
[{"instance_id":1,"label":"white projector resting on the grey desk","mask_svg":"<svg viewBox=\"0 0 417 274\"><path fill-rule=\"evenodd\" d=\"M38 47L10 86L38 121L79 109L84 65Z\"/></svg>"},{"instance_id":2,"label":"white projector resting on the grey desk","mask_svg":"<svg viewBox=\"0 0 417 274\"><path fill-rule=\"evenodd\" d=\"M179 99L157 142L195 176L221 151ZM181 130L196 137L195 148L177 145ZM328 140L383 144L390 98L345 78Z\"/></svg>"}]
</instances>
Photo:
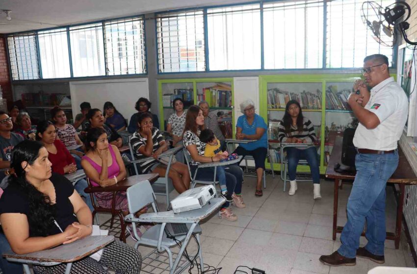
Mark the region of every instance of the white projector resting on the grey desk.
<instances>
[{"instance_id":1,"label":"white projector resting on the grey desk","mask_svg":"<svg viewBox=\"0 0 417 274\"><path fill-rule=\"evenodd\" d=\"M216 195L213 185L200 186L188 189L171 201L174 213L202 208Z\"/></svg>"}]
</instances>

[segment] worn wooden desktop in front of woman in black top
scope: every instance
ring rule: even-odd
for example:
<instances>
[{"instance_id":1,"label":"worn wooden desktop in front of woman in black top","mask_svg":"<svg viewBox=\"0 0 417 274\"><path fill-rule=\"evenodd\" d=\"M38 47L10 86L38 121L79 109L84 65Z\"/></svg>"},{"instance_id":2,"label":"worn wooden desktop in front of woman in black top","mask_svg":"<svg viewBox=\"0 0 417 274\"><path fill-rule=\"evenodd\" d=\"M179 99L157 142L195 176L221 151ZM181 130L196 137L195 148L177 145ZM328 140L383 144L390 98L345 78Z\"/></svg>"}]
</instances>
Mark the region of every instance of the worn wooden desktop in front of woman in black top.
<instances>
[{"instance_id":1,"label":"worn wooden desktop in front of woman in black top","mask_svg":"<svg viewBox=\"0 0 417 274\"><path fill-rule=\"evenodd\" d=\"M66 263L65 274L70 274L73 262L103 249L114 241L114 236L88 236L67 245L28 254L4 252L3 256L10 262L23 264L25 274L31 274L29 265L54 266Z\"/></svg>"}]
</instances>

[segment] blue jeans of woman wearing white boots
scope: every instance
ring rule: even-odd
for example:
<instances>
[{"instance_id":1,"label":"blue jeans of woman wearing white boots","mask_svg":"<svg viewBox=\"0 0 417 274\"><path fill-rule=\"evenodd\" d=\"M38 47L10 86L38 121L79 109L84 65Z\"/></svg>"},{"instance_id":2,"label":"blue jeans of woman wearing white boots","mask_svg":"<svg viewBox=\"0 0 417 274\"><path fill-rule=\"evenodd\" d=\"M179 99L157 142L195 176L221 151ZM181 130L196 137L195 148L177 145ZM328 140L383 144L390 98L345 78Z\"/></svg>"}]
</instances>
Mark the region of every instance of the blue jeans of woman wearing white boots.
<instances>
[{"instance_id":1,"label":"blue jeans of woman wearing white boots","mask_svg":"<svg viewBox=\"0 0 417 274\"><path fill-rule=\"evenodd\" d=\"M289 180L295 180L295 174L297 172L298 161L307 160L310 165L310 171L313 177L313 183L320 183L320 170L318 168L317 150L315 147L309 147L307 149L298 149L295 147L287 147L287 161L288 161L288 175Z\"/></svg>"}]
</instances>

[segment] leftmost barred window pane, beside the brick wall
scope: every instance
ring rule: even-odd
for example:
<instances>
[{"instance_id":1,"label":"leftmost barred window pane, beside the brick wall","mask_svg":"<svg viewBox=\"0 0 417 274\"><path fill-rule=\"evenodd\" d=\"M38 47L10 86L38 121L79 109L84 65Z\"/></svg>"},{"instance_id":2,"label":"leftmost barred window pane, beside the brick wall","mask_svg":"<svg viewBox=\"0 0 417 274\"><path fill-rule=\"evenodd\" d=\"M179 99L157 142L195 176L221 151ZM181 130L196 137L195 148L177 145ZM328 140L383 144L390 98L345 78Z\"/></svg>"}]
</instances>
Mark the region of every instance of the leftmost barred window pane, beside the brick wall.
<instances>
[{"instance_id":1,"label":"leftmost barred window pane, beside the brick wall","mask_svg":"<svg viewBox=\"0 0 417 274\"><path fill-rule=\"evenodd\" d=\"M39 79L39 57L34 33L7 38L13 80Z\"/></svg>"}]
</instances>

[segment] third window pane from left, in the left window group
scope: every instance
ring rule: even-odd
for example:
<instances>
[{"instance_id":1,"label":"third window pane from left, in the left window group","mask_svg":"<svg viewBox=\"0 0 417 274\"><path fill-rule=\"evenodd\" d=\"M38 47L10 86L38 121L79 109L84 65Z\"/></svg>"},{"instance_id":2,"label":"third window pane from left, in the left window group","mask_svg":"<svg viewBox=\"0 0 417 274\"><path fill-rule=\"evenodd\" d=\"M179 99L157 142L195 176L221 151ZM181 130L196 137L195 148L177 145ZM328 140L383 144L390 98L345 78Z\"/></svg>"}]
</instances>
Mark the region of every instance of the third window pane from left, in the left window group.
<instances>
[{"instance_id":1,"label":"third window pane from left, in the left window group","mask_svg":"<svg viewBox=\"0 0 417 274\"><path fill-rule=\"evenodd\" d=\"M103 24L70 27L74 77L105 75Z\"/></svg>"}]
</instances>

